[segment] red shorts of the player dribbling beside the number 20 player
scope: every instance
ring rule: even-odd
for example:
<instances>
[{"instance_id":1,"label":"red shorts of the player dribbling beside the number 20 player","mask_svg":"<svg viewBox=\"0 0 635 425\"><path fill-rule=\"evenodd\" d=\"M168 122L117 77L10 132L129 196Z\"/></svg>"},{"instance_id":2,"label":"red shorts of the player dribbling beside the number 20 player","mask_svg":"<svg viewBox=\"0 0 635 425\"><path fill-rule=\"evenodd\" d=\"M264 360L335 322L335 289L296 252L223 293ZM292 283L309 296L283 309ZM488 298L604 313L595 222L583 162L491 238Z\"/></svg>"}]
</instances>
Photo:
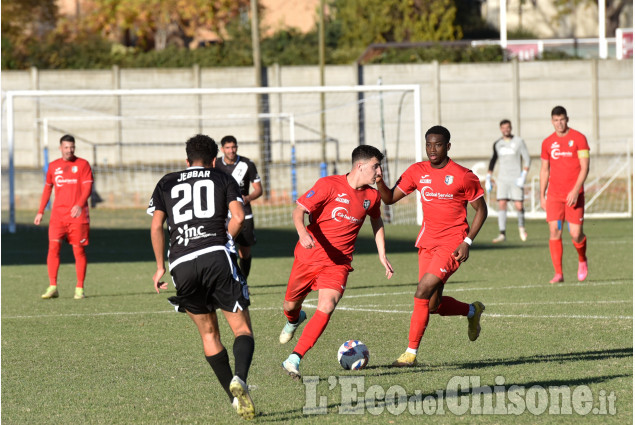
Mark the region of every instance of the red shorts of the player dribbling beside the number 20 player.
<instances>
[{"instance_id":1,"label":"red shorts of the player dribbling beside the number 20 player","mask_svg":"<svg viewBox=\"0 0 635 425\"><path fill-rule=\"evenodd\" d=\"M353 271L350 265L305 264L293 261L291 276L287 283L285 301L304 299L311 291L335 289L340 294L346 289L348 274Z\"/></svg>"}]
</instances>

